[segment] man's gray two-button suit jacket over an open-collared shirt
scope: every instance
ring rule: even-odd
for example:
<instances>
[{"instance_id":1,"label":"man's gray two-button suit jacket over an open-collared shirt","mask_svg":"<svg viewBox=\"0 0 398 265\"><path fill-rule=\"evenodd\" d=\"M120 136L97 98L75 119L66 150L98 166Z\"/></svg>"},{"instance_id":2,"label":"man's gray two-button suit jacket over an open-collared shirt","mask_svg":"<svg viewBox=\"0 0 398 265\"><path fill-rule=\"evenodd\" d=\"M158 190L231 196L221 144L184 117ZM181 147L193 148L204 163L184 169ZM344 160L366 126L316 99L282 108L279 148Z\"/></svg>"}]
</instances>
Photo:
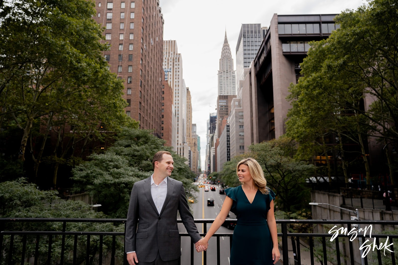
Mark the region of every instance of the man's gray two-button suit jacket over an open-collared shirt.
<instances>
[{"instance_id":1,"label":"man's gray two-button suit jacket over an open-collared shirt","mask_svg":"<svg viewBox=\"0 0 398 265\"><path fill-rule=\"evenodd\" d=\"M150 191L150 180L136 182L131 190L127 213L125 252L136 251L138 261L152 262L160 254L163 261L181 256L177 210L193 242L201 239L189 212L182 182L167 177L167 195L160 214ZM138 225L138 229L137 229Z\"/></svg>"}]
</instances>

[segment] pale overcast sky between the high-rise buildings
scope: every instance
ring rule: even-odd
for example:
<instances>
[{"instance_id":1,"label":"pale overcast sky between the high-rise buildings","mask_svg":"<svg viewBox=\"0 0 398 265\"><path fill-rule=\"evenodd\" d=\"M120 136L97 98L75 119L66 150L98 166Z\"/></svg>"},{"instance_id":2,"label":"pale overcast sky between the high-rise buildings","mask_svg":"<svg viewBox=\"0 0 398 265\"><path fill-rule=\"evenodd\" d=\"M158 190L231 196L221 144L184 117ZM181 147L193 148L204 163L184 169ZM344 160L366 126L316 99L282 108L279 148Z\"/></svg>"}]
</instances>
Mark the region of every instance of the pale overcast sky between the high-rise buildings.
<instances>
[{"instance_id":1,"label":"pale overcast sky between the high-rise buildings","mask_svg":"<svg viewBox=\"0 0 398 265\"><path fill-rule=\"evenodd\" d=\"M241 24L269 27L273 14L339 14L356 10L363 0L160 0L164 40L176 40L183 60L183 78L192 96L192 123L201 137L205 169L207 120L216 112L217 71L224 34L228 37L234 70L235 49Z\"/></svg>"}]
</instances>

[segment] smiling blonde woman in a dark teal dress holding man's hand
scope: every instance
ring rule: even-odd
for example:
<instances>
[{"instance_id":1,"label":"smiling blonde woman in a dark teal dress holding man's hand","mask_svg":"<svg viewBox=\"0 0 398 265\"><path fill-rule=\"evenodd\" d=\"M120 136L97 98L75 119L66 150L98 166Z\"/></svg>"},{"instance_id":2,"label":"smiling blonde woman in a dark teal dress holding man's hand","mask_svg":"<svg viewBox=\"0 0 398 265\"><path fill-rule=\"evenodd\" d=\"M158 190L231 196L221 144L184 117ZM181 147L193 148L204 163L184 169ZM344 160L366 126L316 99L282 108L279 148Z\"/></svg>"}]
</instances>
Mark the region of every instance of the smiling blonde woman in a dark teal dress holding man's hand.
<instances>
[{"instance_id":1,"label":"smiling blonde woman in a dark teal dress holding man's hand","mask_svg":"<svg viewBox=\"0 0 398 265\"><path fill-rule=\"evenodd\" d=\"M255 159L238 162L236 174L242 185L225 190L220 214L197 243L197 251L200 246L207 248L209 239L231 211L238 221L232 236L230 265L275 264L281 255L274 215L275 193L267 187L263 170Z\"/></svg>"}]
</instances>

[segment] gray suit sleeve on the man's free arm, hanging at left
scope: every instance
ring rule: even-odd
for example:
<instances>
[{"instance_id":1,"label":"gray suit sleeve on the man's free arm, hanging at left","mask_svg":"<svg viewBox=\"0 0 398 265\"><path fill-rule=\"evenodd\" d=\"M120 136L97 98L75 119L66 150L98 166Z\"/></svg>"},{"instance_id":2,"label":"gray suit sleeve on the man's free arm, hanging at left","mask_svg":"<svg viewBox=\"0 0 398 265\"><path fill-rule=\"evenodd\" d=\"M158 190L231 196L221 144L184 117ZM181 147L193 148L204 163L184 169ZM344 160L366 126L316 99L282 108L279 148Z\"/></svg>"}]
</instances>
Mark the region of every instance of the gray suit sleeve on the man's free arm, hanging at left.
<instances>
[{"instance_id":1,"label":"gray suit sleeve on the man's free arm, hanging at left","mask_svg":"<svg viewBox=\"0 0 398 265\"><path fill-rule=\"evenodd\" d=\"M129 211L127 212L125 252L135 251L135 232L137 231L138 221L138 185L134 185L131 190Z\"/></svg>"}]
</instances>

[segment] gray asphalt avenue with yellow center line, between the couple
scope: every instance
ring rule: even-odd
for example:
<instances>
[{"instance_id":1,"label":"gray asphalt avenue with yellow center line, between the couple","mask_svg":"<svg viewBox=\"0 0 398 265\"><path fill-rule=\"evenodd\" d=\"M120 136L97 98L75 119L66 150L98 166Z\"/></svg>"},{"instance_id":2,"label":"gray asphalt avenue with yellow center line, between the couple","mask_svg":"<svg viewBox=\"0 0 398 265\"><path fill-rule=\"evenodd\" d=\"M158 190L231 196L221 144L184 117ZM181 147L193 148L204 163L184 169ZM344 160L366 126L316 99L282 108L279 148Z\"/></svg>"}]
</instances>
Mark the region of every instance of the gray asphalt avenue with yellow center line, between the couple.
<instances>
[{"instance_id":1,"label":"gray asphalt avenue with yellow center line, between the couple","mask_svg":"<svg viewBox=\"0 0 398 265\"><path fill-rule=\"evenodd\" d=\"M210 184L208 184L210 187ZM220 213L222 203L224 202L225 195L219 194L219 186L215 185L216 191L204 191L204 188L199 188L199 192L195 194L195 203L190 204L192 206L193 218L194 219L215 219ZM207 199L214 199L214 206L207 206ZM230 218L236 218L233 213L230 213ZM186 232L183 224L178 224L179 232ZM196 224L200 233L204 232L204 224ZM207 224L207 230L209 230L211 224ZM217 233L233 233L233 230L229 230L224 226L221 226ZM181 237L181 265L191 264L191 238ZM212 237L209 240L209 248L207 249L207 264L217 264L217 239ZM220 238L220 265L229 265L230 256L230 244L228 237ZM197 253L194 251L194 264L203 264L203 253Z\"/></svg>"}]
</instances>

